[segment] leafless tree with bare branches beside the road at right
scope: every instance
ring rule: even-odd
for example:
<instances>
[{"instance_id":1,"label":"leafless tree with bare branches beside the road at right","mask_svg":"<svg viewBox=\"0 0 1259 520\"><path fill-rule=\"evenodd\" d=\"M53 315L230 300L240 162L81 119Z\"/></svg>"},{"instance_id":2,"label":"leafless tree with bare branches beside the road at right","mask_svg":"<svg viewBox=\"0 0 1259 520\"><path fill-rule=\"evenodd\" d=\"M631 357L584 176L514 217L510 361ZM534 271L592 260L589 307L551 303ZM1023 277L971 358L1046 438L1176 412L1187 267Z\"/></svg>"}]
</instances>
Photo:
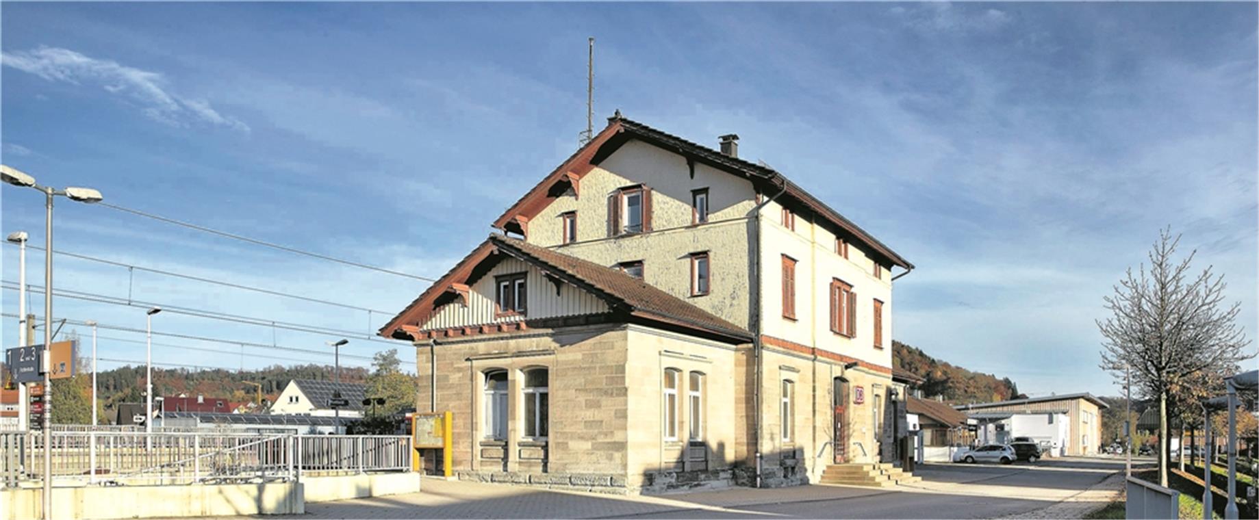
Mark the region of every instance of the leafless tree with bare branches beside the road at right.
<instances>
[{"instance_id":1,"label":"leafless tree with bare branches beside the road at right","mask_svg":"<svg viewBox=\"0 0 1259 520\"><path fill-rule=\"evenodd\" d=\"M1158 483L1167 485L1168 423L1167 405L1182 385L1204 371L1231 373L1251 355L1243 349L1250 342L1235 319L1240 302L1228 305L1224 276L1190 273L1196 251L1176 261L1180 244L1171 228L1158 234L1149 251L1149 268L1142 263L1137 273L1114 286L1104 298L1112 316L1098 321L1105 337L1102 369L1123 379L1124 366L1132 368L1132 384L1138 394L1158 405Z\"/></svg>"}]
</instances>

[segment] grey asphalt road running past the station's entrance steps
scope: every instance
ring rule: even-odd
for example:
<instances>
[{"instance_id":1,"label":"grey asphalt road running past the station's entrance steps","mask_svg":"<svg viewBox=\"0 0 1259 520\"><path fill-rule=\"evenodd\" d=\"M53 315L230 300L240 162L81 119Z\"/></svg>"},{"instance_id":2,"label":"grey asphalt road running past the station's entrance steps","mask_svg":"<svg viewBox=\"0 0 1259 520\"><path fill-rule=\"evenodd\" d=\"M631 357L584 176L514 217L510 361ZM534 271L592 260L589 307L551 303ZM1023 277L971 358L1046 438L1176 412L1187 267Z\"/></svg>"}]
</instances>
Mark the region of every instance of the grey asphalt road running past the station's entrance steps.
<instances>
[{"instance_id":1,"label":"grey asphalt road running past the station's entrance steps","mask_svg":"<svg viewBox=\"0 0 1259 520\"><path fill-rule=\"evenodd\" d=\"M896 491L836 499L730 507L723 511L662 511L642 519L973 519L1026 514L1047 507L1123 471L1123 461L1055 460L1035 465L924 465L923 482ZM684 499L685 500L685 499ZM1099 504L1100 506L1100 504Z\"/></svg>"}]
</instances>

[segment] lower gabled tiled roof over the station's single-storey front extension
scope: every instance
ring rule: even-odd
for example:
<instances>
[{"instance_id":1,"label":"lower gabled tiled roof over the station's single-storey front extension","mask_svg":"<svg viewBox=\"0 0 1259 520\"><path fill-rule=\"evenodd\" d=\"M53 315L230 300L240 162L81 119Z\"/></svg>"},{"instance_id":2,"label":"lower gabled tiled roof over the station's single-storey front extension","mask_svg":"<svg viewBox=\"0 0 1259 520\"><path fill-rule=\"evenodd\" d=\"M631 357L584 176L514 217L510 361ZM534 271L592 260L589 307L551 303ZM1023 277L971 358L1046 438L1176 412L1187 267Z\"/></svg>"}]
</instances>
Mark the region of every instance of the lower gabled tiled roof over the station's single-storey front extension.
<instances>
[{"instance_id":1,"label":"lower gabled tiled roof over the station's single-storey front extension","mask_svg":"<svg viewBox=\"0 0 1259 520\"><path fill-rule=\"evenodd\" d=\"M714 316L700 307L618 269L501 234L491 234L472 253L468 253L467 257L460 261L441 280L412 301L407 308L389 320L380 329L379 334L392 337L394 330L398 327L422 322L432 314L437 296L446 291L451 283L467 283L468 280L460 278L466 277L476 264L490 258L490 252L495 249L538 266L569 285L589 291L607 301L614 311L623 311L645 320L718 334L738 341L752 341L752 334L745 329Z\"/></svg>"}]
</instances>

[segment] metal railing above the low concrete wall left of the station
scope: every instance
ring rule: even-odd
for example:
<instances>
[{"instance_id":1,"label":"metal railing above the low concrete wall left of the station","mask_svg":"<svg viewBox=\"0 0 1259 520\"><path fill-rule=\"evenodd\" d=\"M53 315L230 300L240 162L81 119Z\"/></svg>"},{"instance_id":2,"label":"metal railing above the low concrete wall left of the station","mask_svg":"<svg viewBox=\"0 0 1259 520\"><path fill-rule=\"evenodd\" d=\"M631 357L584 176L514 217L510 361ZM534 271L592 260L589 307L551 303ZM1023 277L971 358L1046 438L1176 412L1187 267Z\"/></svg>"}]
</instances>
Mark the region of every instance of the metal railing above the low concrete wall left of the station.
<instances>
[{"instance_id":1,"label":"metal railing above the low concrete wall left of the station","mask_svg":"<svg viewBox=\"0 0 1259 520\"><path fill-rule=\"evenodd\" d=\"M44 475L40 433L0 433L5 486ZM302 472L410 470L407 436L52 432L54 485L167 485L297 480Z\"/></svg>"}]
</instances>

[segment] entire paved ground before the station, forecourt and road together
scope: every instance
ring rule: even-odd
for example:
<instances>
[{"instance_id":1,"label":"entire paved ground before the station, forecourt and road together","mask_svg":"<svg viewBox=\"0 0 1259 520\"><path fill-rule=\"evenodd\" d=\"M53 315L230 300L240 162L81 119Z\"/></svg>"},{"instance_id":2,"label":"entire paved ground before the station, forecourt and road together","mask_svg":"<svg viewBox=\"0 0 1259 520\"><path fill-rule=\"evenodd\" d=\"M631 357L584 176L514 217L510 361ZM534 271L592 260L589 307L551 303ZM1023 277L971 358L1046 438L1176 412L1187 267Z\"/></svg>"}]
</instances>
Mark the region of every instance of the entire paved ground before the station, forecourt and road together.
<instances>
[{"instance_id":1,"label":"entire paved ground before the station, forecourt and road together","mask_svg":"<svg viewBox=\"0 0 1259 520\"><path fill-rule=\"evenodd\" d=\"M307 504L300 517L1080 517L1115 500L1122 468L1097 460L924 465L915 471L923 482L894 489L733 487L655 496L424 478L418 494Z\"/></svg>"}]
</instances>

